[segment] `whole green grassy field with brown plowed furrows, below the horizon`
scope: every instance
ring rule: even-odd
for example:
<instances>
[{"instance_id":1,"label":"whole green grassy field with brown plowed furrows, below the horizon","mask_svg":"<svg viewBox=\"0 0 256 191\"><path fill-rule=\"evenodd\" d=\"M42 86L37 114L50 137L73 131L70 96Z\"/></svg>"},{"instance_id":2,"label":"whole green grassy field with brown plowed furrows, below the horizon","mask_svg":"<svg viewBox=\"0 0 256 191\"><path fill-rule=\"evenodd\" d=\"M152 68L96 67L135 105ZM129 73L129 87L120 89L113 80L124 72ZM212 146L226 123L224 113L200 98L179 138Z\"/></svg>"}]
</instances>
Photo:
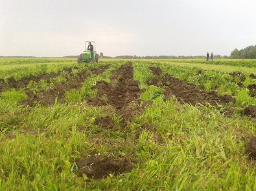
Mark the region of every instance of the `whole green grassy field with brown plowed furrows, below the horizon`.
<instances>
[{"instance_id":1,"label":"whole green grassy field with brown plowed furrows, below the horizon","mask_svg":"<svg viewBox=\"0 0 256 191\"><path fill-rule=\"evenodd\" d=\"M246 59L0 58L0 190L256 190L255 75Z\"/></svg>"}]
</instances>

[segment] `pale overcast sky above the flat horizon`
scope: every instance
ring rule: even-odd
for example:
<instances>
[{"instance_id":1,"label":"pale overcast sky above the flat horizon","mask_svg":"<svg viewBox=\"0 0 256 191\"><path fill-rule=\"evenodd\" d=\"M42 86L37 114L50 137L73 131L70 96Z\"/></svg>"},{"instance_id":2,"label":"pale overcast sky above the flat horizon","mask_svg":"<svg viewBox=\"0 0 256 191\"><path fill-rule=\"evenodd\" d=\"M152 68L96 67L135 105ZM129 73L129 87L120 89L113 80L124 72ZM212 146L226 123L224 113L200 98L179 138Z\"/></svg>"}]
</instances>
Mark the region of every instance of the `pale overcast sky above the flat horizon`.
<instances>
[{"instance_id":1,"label":"pale overcast sky above the flat horizon","mask_svg":"<svg viewBox=\"0 0 256 191\"><path fill-rule=\"evenodd\" d=\"M230 55L256 45L255 0L0 1L0 55Z\"/></svg>"}]
</instances>

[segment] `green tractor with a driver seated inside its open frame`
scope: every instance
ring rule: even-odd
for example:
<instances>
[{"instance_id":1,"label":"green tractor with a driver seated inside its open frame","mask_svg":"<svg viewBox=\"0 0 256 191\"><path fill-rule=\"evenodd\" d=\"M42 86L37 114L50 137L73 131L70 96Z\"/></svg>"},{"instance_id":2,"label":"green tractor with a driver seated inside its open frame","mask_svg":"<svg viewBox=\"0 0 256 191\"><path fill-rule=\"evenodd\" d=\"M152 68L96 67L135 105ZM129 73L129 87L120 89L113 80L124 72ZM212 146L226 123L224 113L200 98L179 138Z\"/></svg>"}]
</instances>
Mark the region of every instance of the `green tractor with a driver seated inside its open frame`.
<instances>
[{"instance_id":1,"label":"green tractor with a driver seated inside its open frame","mask_svg":"<svg viewBox=\"0 0 256 191\"><path fill-rule=\"evenodd\" d=\"M84 51L77 59L77 63L99 63L99 54L96 52L95 41L86 41L86 47Z\"/></svg>"}]
</instances>

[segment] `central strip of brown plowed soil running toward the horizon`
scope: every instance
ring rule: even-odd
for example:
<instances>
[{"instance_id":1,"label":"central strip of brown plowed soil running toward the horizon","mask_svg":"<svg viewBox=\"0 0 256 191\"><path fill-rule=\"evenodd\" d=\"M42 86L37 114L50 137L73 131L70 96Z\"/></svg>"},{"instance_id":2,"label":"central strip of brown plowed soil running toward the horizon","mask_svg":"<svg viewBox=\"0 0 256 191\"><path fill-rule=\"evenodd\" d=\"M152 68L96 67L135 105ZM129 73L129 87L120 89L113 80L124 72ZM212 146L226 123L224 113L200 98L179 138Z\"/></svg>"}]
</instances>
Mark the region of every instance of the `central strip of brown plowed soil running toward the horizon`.
<instances>
[{"instance_id":1,"label":"central strip of brown plowed soil running toward the horizon","mask_svg":"<svg viewBox=\"0 0 256 191\"><path fill-rule=\"evenodd\" d=\"M87 103L93 106L113 106L115 112L122 116L121 125L125 126L126 121L130 121L135 114L143 110L143 107L139 106L139 95L143 91L139 89L139 82L134 81L133 74L134 70L131 62L122 65L118 70L114 70L111 76L113 83L98 81L95 86L97 97L87 99ZM137 105L136 108L134 105ZM110 121L108 118L105 119ZM99 125L105 124L102 120L96 119L96 121L101 121ZM111 121L109 126L111 127Z\"/></svg>"}]
</instances>

